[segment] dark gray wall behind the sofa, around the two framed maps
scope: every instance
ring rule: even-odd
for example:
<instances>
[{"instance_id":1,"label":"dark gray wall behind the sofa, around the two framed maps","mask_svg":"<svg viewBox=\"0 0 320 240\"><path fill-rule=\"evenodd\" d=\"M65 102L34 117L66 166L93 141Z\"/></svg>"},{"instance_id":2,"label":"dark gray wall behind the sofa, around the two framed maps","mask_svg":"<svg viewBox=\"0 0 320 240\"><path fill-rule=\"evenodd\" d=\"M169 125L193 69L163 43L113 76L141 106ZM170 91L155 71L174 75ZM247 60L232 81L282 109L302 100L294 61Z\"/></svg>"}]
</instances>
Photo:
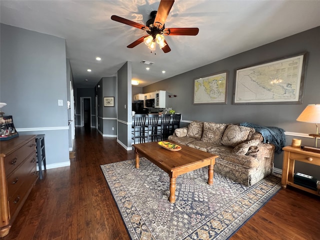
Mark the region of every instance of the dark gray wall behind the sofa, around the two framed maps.
<instances>
[{"instance_id":1,"label":"dark gray wall behind the sofa, around the two framed maps","mask_svg":"<svg viewBox=\"0 0 320 240\"><path fill-rule=\"evenodd\" d=\"M143 92L166 90L177 97L166 96L166 106L182 113L182 120L203 120L225 123L248 121L265 126L277 126L293 135L286 136L290 145L296 133L314 133L315 124L298 122L295 119L307 104L320 103L320 27L271 42L269 44L239 53L211 64L190 70L174 77L143 87ZM303 51L308 52L304 96L302 104L256 104L233 105L234 72L236 68L257 64L269 60L291 56ZM207 53L214 54L208 50ZM227 104L193 105L193 80L211 73L228 70ZM168 95L168 94L167 94ZM308 137L302 144L313 145L314 140ZM275 154L274 166L282 169L283 154ZM296 169L320 178L320 167L310 164L296 164Z\"/></svg>"}]
</instances>

